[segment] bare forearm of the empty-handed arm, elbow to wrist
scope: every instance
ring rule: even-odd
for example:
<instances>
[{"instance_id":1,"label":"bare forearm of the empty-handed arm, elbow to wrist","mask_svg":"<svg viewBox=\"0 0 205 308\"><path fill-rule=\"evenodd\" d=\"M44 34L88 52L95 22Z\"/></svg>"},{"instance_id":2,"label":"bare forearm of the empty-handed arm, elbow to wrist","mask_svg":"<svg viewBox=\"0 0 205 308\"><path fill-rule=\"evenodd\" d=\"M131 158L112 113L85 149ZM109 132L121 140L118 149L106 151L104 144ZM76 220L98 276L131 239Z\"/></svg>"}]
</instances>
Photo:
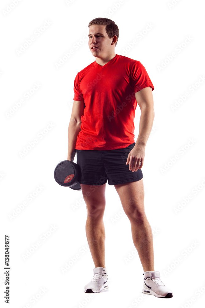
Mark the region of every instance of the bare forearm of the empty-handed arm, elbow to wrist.
<instances>
[{"instance_id":1,"label":"bare forearm of the empty-handed arm, elbow to wrist","mask_svg":"<svg viewBox=\"0 0 205 308\"><path fill-rule=\"evenodd\" d=\"M145 146L147 144L149 135L152 130L154 117L155 117L155 113L154 113L153 107L142 108L141 115L140 115L139 135L138 135L135 145Z\"/></svg>"}]
</instances>

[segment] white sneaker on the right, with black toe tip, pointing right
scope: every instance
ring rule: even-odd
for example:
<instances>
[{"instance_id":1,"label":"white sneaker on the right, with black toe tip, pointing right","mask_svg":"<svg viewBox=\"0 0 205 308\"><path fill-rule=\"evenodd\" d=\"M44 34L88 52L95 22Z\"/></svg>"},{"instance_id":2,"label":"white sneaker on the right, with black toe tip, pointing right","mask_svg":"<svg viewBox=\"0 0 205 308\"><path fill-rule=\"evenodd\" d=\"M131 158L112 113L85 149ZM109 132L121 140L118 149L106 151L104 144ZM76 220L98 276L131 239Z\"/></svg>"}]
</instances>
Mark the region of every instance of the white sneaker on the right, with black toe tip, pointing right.
<instances>
[{"instance_id":1,"label":"white sneaker on the right, with black toe tip, pointing right","mask_svg":"<svg viewBox=\"0 0 205 308\"><path fill-rule=\"evenodd\" d=\"M144 283L142 292L144 294L155 295L156 297L170 298L173 296L171 289L166 287L160 280L160 272L143 274Z\"/></svg>"}]
</instances>

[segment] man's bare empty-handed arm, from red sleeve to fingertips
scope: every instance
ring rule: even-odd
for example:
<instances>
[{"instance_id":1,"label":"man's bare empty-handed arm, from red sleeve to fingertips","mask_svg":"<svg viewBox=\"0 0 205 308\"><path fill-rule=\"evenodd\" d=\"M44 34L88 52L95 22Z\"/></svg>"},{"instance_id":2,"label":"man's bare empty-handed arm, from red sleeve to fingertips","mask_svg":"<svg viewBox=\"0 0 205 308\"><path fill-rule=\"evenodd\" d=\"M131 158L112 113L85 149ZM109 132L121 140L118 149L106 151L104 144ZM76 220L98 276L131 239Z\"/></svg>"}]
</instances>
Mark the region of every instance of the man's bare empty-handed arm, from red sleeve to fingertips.
<instances>
[{"instance_id":1,"label":"man's bare empty-handed arm, from red sleeve to fingertips","mask_svg":"<svg viewBox=\"0 0 205 308\"><path fill-rule=\"evenodd\" d=\"M135 93L135 98L140 106L140 128L139 135L134 148L129 152L126 164L129 164L129 170L132 172L141 169L144 162L145 146L152 130L154 121L154 101L152 88L146 87Z\"/></svg>"}]
</instances>

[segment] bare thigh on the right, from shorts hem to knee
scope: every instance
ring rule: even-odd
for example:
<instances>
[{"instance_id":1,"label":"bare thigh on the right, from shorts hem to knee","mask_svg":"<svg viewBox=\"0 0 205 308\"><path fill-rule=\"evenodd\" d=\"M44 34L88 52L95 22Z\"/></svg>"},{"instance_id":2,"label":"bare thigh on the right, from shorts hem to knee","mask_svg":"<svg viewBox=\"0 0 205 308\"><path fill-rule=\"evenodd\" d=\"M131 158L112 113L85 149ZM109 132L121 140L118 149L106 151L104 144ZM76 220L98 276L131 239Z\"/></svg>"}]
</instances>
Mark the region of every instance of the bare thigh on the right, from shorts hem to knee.
<instances>
[{"instance_id":1,"label":"bare thigh on the right, from shorts hem to knee","mask_svg":"<svg viewBox=\"0 0 205 308\"><path fill-rule=\"evenodd\" d=\"M124 212L127 215L135 215L135 218L140 218L145 215L143 179L114 186L120 197Z\"/></svg>"}]
</instances>

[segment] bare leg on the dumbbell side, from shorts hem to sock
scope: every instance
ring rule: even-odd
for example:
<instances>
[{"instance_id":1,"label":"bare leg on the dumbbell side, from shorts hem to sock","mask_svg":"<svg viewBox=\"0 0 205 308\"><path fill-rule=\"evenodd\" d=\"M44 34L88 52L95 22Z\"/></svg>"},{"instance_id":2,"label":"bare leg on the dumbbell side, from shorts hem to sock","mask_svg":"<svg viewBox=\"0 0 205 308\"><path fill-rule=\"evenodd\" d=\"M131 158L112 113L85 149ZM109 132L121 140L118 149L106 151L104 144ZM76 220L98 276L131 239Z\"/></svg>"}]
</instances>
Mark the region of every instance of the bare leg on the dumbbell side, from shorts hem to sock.
<instances>
[{"instance_id":1,"label":"bare leg on the dumbbell side, from shorts hem to sock","mask_svg":"<svg viewBox=\"0 0 205 308\"><path fill-rule=\"evenodd\" d=\"M92 190L90 187L92 187ZM105 229L103 222L105 209L105 187L106 183L101 186L81 184L88 215L85 224L86 237L95 267L106 267ZM86 194L87 192L89 193Z\"/></svg>"}]
</instances>

